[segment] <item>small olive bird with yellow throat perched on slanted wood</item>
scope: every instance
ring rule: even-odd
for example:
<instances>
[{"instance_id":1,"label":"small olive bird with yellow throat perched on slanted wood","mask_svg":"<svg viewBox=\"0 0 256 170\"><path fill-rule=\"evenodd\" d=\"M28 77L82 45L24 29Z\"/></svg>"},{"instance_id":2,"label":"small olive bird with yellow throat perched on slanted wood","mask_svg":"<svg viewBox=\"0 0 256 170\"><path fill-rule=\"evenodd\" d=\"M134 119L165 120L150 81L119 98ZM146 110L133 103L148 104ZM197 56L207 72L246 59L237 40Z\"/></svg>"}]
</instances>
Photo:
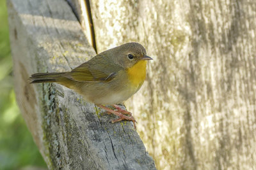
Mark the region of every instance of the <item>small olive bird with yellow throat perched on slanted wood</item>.
<instances>
[{"instance_id":1,"label":"small olive bird with yellow throat perched on slanted wood","mask_svg":"<svg viewBox=\"0 0 256 170\"><path fill-rule=\"evenodd\" d=\"M31 83L56 82L73 89L86 101L117 115L119 118L112 123L129 120L136 129L132 113L122 110L117 104L140 89L146 77L147 60L152 58L147 56L142 45L126 43L95 55L70 72L36 73L30 80ZM116 110L102 104L112 105Z\"/></svg>"}]
</instances>

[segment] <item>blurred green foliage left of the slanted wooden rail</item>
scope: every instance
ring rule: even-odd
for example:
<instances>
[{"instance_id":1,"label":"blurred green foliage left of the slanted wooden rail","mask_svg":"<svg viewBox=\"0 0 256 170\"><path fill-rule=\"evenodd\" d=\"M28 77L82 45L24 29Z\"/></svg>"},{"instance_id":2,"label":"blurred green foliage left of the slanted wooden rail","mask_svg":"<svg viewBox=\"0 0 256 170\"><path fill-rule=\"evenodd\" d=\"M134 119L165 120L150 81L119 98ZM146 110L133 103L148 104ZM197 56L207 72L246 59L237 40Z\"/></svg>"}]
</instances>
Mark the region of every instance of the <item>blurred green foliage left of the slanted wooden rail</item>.
<instances>
[{"instance_id":1,"label":"blurred green foliage left of the slanted wooden rail","mask_svg":"<svg viewBox=\"0 0 256 170\"><path fill-rule=\"evenodd\" d=\"M0 23L0 169L46 168L15 101L5 0L0 0Z\"/></svg>"}]
</instances>

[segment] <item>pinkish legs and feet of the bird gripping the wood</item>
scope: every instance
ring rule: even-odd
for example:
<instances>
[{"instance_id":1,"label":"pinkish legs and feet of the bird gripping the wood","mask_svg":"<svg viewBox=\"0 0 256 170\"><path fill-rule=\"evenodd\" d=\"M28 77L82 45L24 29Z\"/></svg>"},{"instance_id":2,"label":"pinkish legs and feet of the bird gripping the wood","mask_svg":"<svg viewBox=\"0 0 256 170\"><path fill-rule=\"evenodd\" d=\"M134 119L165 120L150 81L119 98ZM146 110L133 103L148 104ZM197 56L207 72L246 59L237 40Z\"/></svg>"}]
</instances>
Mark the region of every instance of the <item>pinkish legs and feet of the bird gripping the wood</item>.
<instances>
[{"instance_id":1,"label":"pinkish legs and feet of the bird gripping the wood","mask_svg":"<svg viewBox=\"0 0 256 170\"><path fill-rule=\"evenodd\" d=\"M135 118L132 116L132 113L131 113L131 112L126 111L126 110L123 110L122 108L120 108L120 107L117 106L117 105L116 105L117 108L116 108L115 105L113 105L114 108L116 108L117 111L111 110L111 109L109 109L109 108L107 108L107 107L105 107L105 106L102 106L102 105L97 105L97 106L98 106L99 108L102 108L102 109L106 110L107 113L113 113L114 115L116 115L116 116L119 117L119 118L116 118L115 120L112 120L112 121L111 121L112 123L120 122L120 121L122 121L122 120L129 120L129 121L132 121L132 123L133 123L133 125L134 125L134 129L136 130L136 120L135 120ZM126 113L127 115L130 115L130 117L125 116L123 113L124 113L124 114Z\"/></svg>"}]
</instances>

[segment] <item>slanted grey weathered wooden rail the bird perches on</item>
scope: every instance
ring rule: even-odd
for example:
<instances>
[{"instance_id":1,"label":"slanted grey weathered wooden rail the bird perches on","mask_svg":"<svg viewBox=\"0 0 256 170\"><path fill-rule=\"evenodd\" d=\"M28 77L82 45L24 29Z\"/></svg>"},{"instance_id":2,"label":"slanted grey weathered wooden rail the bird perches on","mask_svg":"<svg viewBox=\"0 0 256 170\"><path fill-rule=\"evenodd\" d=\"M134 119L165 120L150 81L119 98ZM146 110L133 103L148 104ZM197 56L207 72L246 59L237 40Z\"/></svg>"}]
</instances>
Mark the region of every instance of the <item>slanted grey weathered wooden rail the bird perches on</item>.
<instances>
[{"instance_id":1,"label":"slanted grey weathered wooden rail the bird perches on","mask_svg":"<svg viewBox=\"0 0 256 170\"><path fill-rule=\"evenodd\" d=\"M131 122L30 74L70 71L95 55L66 1L8 0L15 93L49 169L156 169Z\"/></svg>"}]
</instances>

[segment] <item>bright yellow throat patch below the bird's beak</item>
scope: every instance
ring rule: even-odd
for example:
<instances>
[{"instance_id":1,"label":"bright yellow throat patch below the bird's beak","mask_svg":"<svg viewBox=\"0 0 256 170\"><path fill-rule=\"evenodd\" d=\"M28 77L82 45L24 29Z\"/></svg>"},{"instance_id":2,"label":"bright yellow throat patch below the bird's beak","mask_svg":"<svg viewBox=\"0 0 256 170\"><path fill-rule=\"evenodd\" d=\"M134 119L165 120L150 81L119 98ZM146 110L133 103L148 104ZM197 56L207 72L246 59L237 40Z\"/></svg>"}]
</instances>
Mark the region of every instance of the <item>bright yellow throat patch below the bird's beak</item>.
<instances>
[{"instance_id":1,"label":"bright yellow throat patch below the bird's beak","mask_svg":"<svg viewBox=\"0 0 256 170\"><path fill-rule=\"evenodd\" d=\"M142 85L146 78L146 67L147 60L140 60L134 66L127 69L128 79L131 81L132 85L139 87Z\"/></svg>"}]
</instances>

